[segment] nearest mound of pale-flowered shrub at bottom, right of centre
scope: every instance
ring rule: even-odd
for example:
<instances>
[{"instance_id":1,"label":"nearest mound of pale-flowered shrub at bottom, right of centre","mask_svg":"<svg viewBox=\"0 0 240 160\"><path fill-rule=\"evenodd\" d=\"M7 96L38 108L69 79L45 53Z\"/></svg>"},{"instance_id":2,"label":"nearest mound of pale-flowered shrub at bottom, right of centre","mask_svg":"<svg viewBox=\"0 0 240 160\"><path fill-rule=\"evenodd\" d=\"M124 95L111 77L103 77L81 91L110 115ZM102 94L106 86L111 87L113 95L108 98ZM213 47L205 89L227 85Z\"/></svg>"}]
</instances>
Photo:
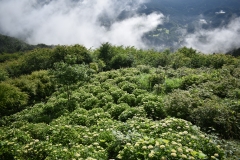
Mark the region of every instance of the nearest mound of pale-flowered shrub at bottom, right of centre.
<instances>
[{"instance_id":1,"label":"nearest mound of pale-flowered shrub at bottom, right of centre","mask_svg":"<svg viewBox=\"0 0 240 160\"><path fill-rule=\"evenodd\" d=\"M141 127L139 130L141 130ZM155 132L155 128L160 132ZM222 159L223 150L189 122L167 118L150 123L153 132L126 143L119 159ZM178 130L182 130L179 132ZM184 130L184 131L183 131Z\"/></svg>"}]
</instances>

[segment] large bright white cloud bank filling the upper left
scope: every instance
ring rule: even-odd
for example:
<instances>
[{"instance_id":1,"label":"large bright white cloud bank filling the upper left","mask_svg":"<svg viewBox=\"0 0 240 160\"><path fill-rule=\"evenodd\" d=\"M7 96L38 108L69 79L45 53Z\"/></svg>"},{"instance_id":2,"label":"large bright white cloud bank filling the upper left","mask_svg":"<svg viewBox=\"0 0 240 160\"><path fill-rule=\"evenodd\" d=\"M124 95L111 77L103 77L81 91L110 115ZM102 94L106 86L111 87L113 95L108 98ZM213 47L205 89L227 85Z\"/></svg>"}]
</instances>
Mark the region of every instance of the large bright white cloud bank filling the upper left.
<instances>
[{"instance_id":1,"label":"large bright white cloud bank filling the upper left","mask_svg":"<svg viewBox=\"0 0 240 160\"><path fill-rule=\"evenodd\" d=\"M137 14L146 0L0 0L0 33L28 43L101 43L146 47L142 36L163 21L163 15ZM119 18L125 13L124 19Z\"/></svg>"}]
</instances>

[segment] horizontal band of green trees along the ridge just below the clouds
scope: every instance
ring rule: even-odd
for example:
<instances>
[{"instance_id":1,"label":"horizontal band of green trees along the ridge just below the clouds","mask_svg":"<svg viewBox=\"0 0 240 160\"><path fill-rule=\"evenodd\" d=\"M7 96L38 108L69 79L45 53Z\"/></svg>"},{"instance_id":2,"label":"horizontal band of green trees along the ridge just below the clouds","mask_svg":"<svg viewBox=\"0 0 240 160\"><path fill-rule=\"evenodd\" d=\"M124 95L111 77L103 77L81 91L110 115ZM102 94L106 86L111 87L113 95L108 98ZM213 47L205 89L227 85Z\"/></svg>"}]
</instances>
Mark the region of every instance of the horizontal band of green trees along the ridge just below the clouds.
<instances>
[{"instance_id":1,"label":"horizontal band of green trees along the ridge just below the clouds","mask_svg":"<svg viewBox=\"0 0 240 160\"><path fill-rule=\"evenodd\" d=\"M180 48L171 53L168 49L142 50L135 47L114 46L104 43L99 48L87 49L82 45L36 48L27 52L0 54L1 80L19 77L33 71L51 69L56 62L86 64L96 71L106 71L137 65L152 67L221 68L224 65L238 65L239 58L225 54L202 54L192 48Z\"/></svg>"}]
</instances>

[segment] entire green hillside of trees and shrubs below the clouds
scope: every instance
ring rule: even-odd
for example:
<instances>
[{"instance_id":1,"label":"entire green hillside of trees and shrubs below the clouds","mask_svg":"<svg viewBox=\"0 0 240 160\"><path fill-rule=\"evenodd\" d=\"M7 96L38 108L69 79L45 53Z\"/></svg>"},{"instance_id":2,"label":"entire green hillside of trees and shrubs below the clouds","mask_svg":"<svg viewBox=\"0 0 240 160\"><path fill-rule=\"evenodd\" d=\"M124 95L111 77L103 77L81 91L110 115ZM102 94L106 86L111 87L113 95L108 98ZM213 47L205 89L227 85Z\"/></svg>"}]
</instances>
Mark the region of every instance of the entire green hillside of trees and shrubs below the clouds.
<instances>
[{"instance_id":1,"label":"entire green hillside of trees and shrubs below the clouds","mask_svg":"<svg viewBox=\"0 0 240 160\"><path fill-rule=\"evenodd\" d=\"M0 159L237 159L240 58L102 44L0 55Z\"/></svg>"}]
</instances>

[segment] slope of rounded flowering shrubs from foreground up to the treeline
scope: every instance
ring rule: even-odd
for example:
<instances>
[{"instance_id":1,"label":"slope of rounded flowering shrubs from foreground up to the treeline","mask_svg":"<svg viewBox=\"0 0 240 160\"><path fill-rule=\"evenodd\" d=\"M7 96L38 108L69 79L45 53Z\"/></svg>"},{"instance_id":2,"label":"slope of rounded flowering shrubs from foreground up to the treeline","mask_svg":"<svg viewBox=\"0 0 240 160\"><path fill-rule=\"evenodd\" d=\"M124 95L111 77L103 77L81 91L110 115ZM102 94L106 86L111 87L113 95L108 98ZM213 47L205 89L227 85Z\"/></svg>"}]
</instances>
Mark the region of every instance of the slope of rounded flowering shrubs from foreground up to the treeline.
<instances>
[{"instance_id":1,"label":"slope of rounded flowering shrubs from foreground up to the treeline","mask_svg":"<svg viewBox=\"0 0 240 160\"><path fill-rule=\"evenodd\" d=\"M0 159L225 159L216 137L197 126L239 138L238 80L214 88L224 77L222 70L211 73L211 84L190 76L204 71L213 72L189 68L158 68L154 74L153 68L146 73L131 68L100 72L84 85L69 86L70 99L64 88L58 88L46 102L1 117ZM167 78L158 77L161 73ZM179 89L183 77L190 80L185 79L186 90ZM150 90L149 80L163 92ZM223 84L232 88L224 91L227 99L216 92Z\"/></svg>"}]
</instances>

